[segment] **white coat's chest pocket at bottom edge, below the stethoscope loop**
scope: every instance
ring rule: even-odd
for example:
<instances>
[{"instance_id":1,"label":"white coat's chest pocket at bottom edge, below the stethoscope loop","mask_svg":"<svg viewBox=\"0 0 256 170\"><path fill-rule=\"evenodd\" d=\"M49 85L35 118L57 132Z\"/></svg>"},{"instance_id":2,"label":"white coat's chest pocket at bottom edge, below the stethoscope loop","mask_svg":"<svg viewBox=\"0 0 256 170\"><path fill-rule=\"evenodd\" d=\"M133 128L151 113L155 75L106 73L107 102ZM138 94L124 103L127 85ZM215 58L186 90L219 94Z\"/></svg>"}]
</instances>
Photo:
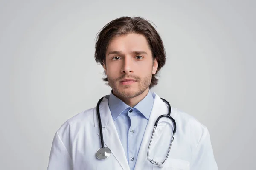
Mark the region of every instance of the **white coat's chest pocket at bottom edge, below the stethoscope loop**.
<instances>
[{"instance_id":1,"label":"white coat's chest pocket at bottom edge, below the stethoscope loop","mask_svg":"<svg viewBox=\"0 0 256 170\"><path fill-rule=\"evenodd\" d=\"M155 160L163 160L163 158L156 157ZM153 170L189 170L190 163L189 161L181 160L181 159L174 159L168 158L166 162L159 167L157 165L153 165Z\"/></svg>"}]
</instances>

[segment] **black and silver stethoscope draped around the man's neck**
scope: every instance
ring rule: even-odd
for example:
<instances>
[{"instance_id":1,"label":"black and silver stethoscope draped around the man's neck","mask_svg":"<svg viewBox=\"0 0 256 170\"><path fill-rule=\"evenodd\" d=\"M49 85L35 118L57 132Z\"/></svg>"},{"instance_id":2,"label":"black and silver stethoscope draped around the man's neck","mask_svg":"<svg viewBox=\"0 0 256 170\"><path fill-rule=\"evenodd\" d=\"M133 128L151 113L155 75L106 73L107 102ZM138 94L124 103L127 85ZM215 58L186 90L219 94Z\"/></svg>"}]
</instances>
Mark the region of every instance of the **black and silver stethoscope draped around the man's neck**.
<instances>
[{"instance_id":1,"label":"black and silver stethoscope draped around the man's neck","mask_svg":"<svg viewBox=\"0 0 256 170\"><path fill-rule=\"evenodd\" d=\"M111 154L111 150L110 150L108 147L105 147L105 146L104 146L104 140L103 140L103 134L102 134L102 122L101 122L101 119L100 119L99 104L100 104L100 102L102 102L103 98L104 98L104 97L102 97L101 99L99 99L99 101L98 101L98 103L97 103L97 115L98 115L99 133L100 133L100 140L101 140L101 148L99 148L99 150L97 150L97 152L96 152L96 157L97 157L98 159L107 159L107 158L110 156L110 154ZM165 99L163 99L163 98L161 98L161 99L162 99L163 102L165 102L165 103L168 105L168 107L169 107L169 109L168 109L168 114L161 115L161 116L159 116L159 117L157 118L157 121L156 121L156 123L155 123L155 125L154 125L154 129L153 129L153 131L152 131L152 136L151 136L151 139L150 139L150 143L149 143L149 146L148 146L148 153L147 153L147 156L148 156L147 159L148 159L148 161L150 161L152 164L156 164L156 165L159 165L159 166L161 166L163 163L166 162L166 160L167 160L167 158L168 158L168 156L169 156L171 147L172 147L172 142L173 142L173 140L174 140L174 135L175 135L175 133L176 133L176 122L175 122L175 120L171 117L171 105L170 105L169 102L167 102ZM172 120L172 123L173 123L173 125L174 125L174 128L173 128L173 131L172 131L172 140L171 140L170 145L169 145L169 150L168 150L166 159L165 159L164 161L162 161L162 162L157 162L157 161L154 161L153 159L151 159L151 158L149 157L149 150L150 150L150 146L151 146L151 142L152 142L152 139L153 139L155 130L156 130L156 128L157 128L158 121L159 121L162 117L167 117L167 118L171 119L171 120ZM167 121L166 121L166 122L167 122ZM167 123L169 123L169 122L167 122ZM169 124L170 124L170 123L169 123Z\"/></svg>"}]
</instances>

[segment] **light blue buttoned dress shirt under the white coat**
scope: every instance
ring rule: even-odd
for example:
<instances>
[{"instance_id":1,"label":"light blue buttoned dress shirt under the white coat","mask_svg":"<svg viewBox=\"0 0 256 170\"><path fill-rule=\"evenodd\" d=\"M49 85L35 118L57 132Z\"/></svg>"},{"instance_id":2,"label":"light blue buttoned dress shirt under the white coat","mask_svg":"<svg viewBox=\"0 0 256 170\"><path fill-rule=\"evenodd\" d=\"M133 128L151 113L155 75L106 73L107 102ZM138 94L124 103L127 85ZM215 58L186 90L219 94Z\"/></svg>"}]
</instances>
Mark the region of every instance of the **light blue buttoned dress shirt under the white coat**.
<instances>
[{"instance_id":1,"label":"light blue buttoned dress shirt under the white coat","mask_svg":"<svg viewBox=\"0 0 256 170\"><path fill-rule=\"evenodd\" d=\"M133 108L117 98L112 91L108 99L113 121L131 170L135 167L153 103L151 91Z\"/></svg>"}]
</instances>

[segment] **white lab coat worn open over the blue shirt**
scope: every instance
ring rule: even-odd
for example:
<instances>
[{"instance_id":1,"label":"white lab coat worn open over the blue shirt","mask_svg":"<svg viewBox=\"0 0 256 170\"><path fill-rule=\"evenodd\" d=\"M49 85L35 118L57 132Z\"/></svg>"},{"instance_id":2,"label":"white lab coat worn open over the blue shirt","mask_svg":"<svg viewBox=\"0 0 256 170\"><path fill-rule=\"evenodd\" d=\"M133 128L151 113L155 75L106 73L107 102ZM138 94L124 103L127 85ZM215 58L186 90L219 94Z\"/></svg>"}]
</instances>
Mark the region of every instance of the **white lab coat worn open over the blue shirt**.
<instances>
[{"instance_id":1,"label":"white lab coat worn open over the blue shirt","mask_svg":"<svg viewBox=\"0 0 256 170\"><path fill-rule=\"evenodd\" d=\"M168 113L168 106L155 96L148 125L143 136L134 170L218 170L213 155L207 127L188 114L172 108L171 116L177 124L175 139L167 161L160 168L147 160L148 145L156 119ZM111 156L105 160L96 158L101 147L96 107L83 111L67 120L56 132L47 170L130 170L124 149L119 140L105 96L99 109L106 147ZM169 119L162 118L160 122ZM172 137L173 125L160 123L154 134L149 156L163 161Z\"/></svg>"}]
</instances>

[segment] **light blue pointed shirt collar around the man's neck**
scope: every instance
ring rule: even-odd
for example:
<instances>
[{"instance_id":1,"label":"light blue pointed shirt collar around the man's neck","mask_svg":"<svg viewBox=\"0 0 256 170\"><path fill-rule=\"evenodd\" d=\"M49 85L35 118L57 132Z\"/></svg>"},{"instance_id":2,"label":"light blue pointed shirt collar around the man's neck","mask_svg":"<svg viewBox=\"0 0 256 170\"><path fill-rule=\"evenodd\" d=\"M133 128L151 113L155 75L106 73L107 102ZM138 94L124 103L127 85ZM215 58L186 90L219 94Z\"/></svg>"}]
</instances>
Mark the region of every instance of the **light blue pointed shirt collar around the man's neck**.
<instances>
[{"instance_id":1,"label":"light blue pointed shirt collar around the man's neck","mask_svg":"<svg viewBox=\"0 0 256 170\"><path fill-rule=\"evenodd\" d=\"M147 96L145 96L144 99L142 99L137 105L135 105L134 108L140 111L140 113L142 113L146 119L149 119L151 109L153 107L153 103L154 103L154 98L151 94L151 91L149 90ZM108 99L108 105L114 120L116 120L118 116L121 113L123 113L123 111L125 111L127 108L129 109L131 108L130 106L125 104L125 102L123 102L118 97L116 97L112 93L112 90Z\"/></svg>"}]
</instances>

